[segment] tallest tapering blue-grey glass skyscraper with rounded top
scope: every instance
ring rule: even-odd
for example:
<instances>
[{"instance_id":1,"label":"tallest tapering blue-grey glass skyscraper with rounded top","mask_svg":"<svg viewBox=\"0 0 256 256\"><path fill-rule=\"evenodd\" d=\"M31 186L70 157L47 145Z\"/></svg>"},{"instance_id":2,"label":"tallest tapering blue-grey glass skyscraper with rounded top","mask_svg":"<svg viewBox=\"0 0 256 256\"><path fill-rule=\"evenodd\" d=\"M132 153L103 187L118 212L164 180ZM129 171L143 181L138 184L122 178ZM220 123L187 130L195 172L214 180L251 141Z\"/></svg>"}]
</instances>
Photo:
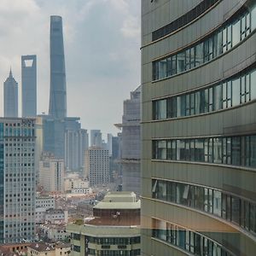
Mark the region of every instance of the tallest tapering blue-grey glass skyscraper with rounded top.
<instances>
[{"instance_id":1,"label":"tallest tapering blue-grey glass skyscraper with rounded top","mask_svg":"<svg viewBox=\"0 0 256 256\"><path fill-rule=\"evenodd\" d=\"M61 16L50 16L50 91L49 115L67 117L67 90Z\"/></svg>"}]
</instances>

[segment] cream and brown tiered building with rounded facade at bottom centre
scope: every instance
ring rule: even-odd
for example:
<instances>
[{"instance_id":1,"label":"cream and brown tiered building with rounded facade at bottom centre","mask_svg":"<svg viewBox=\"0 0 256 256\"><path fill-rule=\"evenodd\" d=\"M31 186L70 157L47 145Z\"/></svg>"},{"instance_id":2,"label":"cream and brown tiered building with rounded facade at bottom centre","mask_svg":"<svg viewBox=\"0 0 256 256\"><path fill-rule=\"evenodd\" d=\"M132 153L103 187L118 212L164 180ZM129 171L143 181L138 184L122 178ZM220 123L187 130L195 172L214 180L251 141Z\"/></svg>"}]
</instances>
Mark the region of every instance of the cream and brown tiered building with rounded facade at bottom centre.
<instances>
[{"instance_id":1,"label":"cream and brown tiered building with rounded facade at bottom centre","mask_svg":"<svg viewBox=\"0 0 256 256\"><path fill-rule=\"evenodd\" d=\"M67 225L71 255L140 255L140 206L133 192L109 192L93 218Z\"/></svg>"}]
</instances>

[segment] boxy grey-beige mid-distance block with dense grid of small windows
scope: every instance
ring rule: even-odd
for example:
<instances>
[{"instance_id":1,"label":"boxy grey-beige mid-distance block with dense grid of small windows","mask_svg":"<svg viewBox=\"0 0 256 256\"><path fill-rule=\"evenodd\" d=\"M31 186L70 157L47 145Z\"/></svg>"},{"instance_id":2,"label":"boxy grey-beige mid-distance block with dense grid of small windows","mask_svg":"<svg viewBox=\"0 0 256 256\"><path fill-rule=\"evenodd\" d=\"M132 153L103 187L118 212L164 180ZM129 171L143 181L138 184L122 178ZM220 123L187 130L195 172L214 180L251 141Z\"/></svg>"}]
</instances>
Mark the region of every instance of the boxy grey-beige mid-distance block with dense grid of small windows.
<instances>
[{"instance_id":1,"label":"boxy grey-beige mid-distance block with dense grid of small windows","mask_svg":"<svg viewBox=\"0 0 256 256\"><path fill-rule=\"evenodd\" d=\"M90 186L109 183L109 154L107 149L90 147L85 150L84 177Z\"/></svg>"}]
</instances>

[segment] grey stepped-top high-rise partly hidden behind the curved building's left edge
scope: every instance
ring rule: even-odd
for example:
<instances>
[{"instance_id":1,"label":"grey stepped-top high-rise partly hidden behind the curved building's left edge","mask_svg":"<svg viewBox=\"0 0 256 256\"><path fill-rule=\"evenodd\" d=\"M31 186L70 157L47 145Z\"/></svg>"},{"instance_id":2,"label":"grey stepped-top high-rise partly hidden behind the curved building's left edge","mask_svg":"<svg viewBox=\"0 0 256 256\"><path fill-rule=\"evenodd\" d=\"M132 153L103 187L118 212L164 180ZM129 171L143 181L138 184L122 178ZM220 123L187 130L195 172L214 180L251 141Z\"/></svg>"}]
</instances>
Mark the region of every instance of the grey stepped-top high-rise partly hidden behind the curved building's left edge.
<instances>
[{"instance_id":1,"label":"grey stepped-top high-rise partly hidden behind the curved building's left edge","mask_svg":"<svg viewBox=\"0 0 256 256\"><path fill-rule=\"evenodd\" d=\"M141 86L131 91L131 99L124 102L122 124L121 159L122 189L141 192Z\"/></svg>"}]
</instances>

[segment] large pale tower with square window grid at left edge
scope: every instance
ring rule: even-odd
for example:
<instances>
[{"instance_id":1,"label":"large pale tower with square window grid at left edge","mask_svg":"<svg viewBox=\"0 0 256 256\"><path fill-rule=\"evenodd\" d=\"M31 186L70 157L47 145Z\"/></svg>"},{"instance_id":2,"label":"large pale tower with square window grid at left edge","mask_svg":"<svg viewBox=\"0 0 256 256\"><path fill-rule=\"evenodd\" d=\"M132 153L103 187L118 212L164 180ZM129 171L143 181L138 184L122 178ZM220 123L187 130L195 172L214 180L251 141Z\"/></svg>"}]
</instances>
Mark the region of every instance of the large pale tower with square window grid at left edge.
<instances>
[{"instance_id":1,"label":"large pale tower with square window grid at left edge","mask_svg":"<svg viewBox=\"0 0 256 256\"><path fill-rule=\"evenodd\" d=\"M0 119L0 243L35 238L35 119Z\"/></svg>"}]
</instances>

